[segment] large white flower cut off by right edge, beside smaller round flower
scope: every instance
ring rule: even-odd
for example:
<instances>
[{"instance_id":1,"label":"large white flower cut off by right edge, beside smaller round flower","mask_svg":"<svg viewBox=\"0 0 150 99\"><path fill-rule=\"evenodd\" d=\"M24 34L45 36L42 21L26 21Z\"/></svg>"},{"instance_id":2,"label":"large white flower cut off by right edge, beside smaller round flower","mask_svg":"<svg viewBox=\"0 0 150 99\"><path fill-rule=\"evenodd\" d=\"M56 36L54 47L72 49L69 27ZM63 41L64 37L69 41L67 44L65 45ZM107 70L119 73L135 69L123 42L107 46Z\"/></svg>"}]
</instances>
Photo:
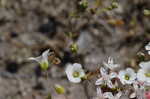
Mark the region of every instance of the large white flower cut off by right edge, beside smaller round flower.
<instances>
[{"instance_id":1,"label":"large white flower cut off by right edge, beside smaller round flower","mask_svg":"<svg viewBox=\"0 0 150 99\"><path fill-rule=\"evenodd\" d=\"M150 84L150 61L141 62L139 66L141 69L137 73L137 79L143 83Z\"/></svg>"}]
</instances>

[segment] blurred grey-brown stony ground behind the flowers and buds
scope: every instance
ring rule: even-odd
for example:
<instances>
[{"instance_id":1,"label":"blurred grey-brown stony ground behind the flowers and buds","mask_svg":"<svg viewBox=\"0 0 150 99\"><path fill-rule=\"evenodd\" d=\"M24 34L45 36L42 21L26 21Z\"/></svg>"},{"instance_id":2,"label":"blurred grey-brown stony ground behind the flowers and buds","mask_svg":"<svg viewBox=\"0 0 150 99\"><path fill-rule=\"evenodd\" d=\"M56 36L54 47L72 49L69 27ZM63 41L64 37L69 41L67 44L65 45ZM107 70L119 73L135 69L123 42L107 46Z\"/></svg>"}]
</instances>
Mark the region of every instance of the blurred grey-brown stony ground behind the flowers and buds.
<instances>
[{"instance_id":1,"label":"blurred grey-brown stony ground behind the flowers and buds","mask_svg":"<svg viewBox=\"0 0 150 99\"><path fill-rule=\"evenodd\" d=\"M89 0L86 11L79 0L0 0L0 99L92 99L95 79L70 83L64 73L68 63L81 63L94 71L109 56L122 67L136 66L137 53L150 41L150 0L119 0L118 7L102 13L110 0ZM71 18L73 12L78 18ZM90 12L91 11L91 12ZM69 37L68 34L75 35ZM70 45L78 45L77 53ZM49 69L46 80L36 62L28 57L50 48L61 60ZM58 95L54 85L65 87Z\"/></svg>"}]
</instances>

